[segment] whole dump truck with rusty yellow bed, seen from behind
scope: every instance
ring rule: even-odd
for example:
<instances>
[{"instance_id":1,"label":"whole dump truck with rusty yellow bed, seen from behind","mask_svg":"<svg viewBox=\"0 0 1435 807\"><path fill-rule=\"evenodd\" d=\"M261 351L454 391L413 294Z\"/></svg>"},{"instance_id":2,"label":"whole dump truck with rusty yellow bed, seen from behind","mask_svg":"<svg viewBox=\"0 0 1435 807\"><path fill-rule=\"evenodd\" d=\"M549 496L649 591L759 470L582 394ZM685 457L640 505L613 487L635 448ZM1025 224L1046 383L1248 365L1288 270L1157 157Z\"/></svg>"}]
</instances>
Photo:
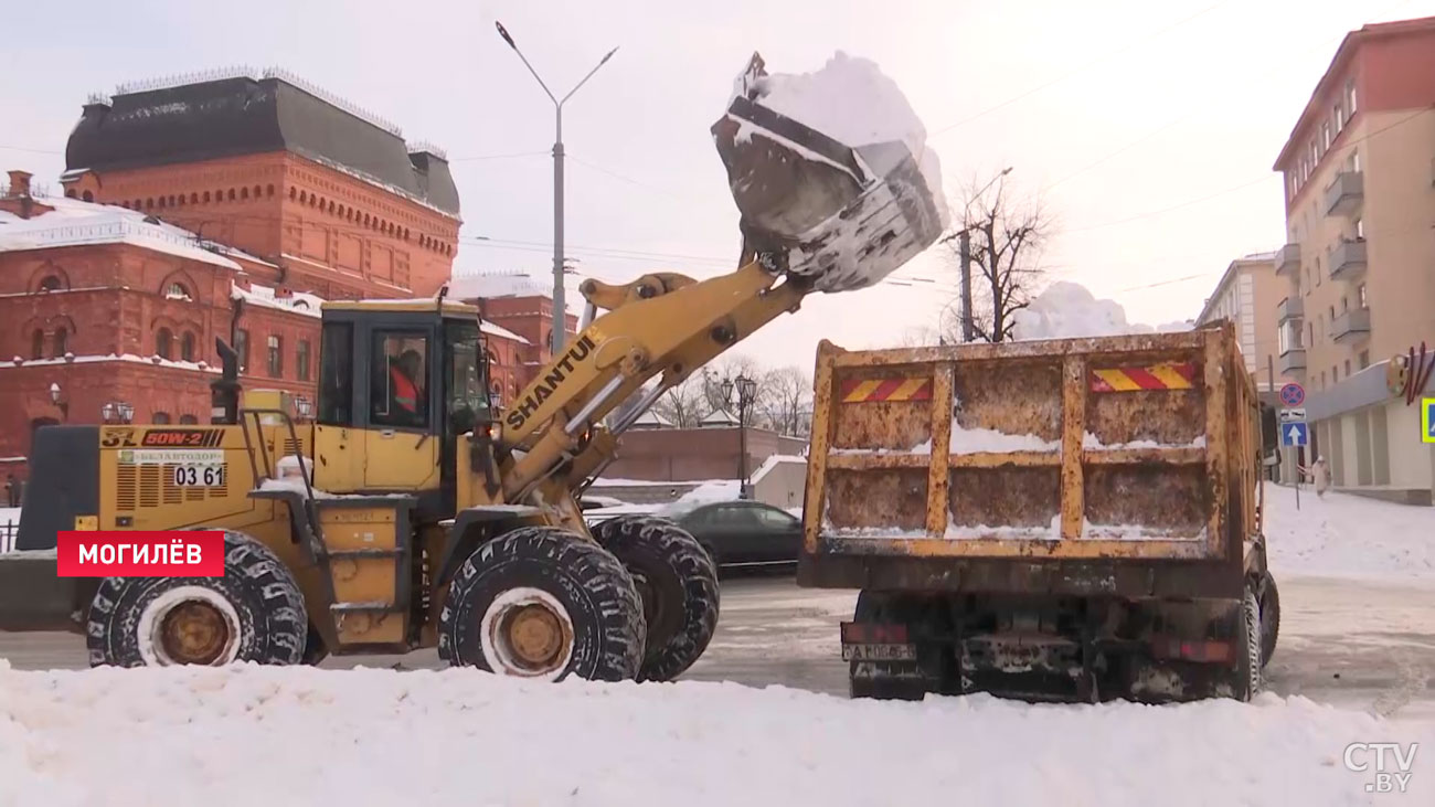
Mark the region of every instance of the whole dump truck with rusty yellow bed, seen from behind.
<instances>
[{"instance_id":1,"label":"whole dump truck with rusty yellow bed, seen from behind","mask_svg":"<svg viewBox=\"0 0 1435 807\"><path fill-rule=\"evenodd\" d=\"M1230 323L821 343L798 583L860 589L852 696L1247 699L1279 630Z\"/></svg>"}]
</instances>

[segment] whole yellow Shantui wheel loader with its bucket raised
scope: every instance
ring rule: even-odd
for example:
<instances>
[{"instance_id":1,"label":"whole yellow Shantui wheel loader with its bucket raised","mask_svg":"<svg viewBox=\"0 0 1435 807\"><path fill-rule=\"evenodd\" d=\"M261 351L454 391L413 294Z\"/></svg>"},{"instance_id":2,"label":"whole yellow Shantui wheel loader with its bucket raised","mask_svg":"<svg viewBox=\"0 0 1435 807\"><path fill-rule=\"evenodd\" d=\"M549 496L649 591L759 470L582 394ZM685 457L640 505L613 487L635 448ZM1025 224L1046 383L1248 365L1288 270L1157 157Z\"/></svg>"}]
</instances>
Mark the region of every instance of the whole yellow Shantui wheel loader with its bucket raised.
<instances>
[{"instance_id":1,"label":"whole yellow Shantui wheel loader with its bucket raised","mask_svg":"<svg viewBox=\"0 0 1435 807\"><path fill-rule=\"evenodd\" d=\"M504 411L479 313L331 302L296 422L241 391L208 425L36 434L0 630L83 633L95 665L314 663L438 648L535 679L672 679L718 623L712 559L676 524L588 528L575 494L669 388L814 291L878 281L944 225L903 142L842 144L762 105L761 57L713 128L745 235L707 280L587 280L580 332ZM620 422L604 418L636 401ZM62 530L222 530L222 577L56 576Z\"/></svg>"}]
</instances>

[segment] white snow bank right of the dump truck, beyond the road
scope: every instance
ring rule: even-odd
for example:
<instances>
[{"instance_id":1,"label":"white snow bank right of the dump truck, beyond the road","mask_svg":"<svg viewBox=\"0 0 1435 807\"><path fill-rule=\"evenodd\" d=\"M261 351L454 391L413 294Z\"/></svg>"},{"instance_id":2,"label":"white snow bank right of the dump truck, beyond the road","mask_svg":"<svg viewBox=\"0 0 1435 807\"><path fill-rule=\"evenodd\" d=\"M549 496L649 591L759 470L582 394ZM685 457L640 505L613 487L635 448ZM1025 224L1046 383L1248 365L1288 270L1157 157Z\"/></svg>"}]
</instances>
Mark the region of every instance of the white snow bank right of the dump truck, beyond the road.
<instances>
[{"instance_id":1,"label":"white snow bank right of the dump truck, beyond the road","mask_svg":"<svg viewBox=\"0 0 1435 807\"><path fill-rule=\"evenodd\" d=\"M1271 573L1435 583L1435 507L1266 485Z\"/></svg>"}]
</instances>

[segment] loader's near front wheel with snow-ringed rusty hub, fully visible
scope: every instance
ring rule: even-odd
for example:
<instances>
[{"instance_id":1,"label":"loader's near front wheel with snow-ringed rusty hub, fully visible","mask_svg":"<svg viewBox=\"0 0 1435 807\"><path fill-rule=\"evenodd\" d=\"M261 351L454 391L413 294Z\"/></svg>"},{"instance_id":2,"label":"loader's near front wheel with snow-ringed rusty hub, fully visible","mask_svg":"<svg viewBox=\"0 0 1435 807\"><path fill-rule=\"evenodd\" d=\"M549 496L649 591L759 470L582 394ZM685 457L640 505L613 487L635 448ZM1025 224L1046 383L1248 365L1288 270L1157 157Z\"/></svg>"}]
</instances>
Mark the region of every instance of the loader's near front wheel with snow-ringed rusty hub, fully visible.
<instances>
[{"instance_id":1,"label":"loader's near front wheel with snow-ringed rusty hub, fully visible","mask_svg":"<svg viewBox=\"0 0 1435 807\"><path fill-rule=\"evenodd\" d=\"M634 678L644 638L623 564L557 527L521 527L478 547L439 613L439 658L540 681Z\"/></svg>"}]
</instances>

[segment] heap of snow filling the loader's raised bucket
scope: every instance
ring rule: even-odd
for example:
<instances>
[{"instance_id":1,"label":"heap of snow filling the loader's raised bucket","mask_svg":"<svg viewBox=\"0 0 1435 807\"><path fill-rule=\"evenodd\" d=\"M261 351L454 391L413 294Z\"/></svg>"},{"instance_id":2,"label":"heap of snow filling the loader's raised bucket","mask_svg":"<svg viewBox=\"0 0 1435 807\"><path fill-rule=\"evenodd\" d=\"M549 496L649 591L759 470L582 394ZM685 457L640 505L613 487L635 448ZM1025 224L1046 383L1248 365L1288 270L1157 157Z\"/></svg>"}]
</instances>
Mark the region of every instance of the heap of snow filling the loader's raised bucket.
<instances>
[{"instance_id":1,"label":"heap of snow filling the loader's raised bucket","mask_svg":"<svg viewBox=\"0 0 1435 807\"><path fill-rule=\"evenodd\" d=\"M907 144L946 228L950 214L941 194L941 162L927 146L927 128L875 62L838 50L815 73L772 73L758 80L756 90L768 109L845 145Z\"/></svg>"}]
</instances>

